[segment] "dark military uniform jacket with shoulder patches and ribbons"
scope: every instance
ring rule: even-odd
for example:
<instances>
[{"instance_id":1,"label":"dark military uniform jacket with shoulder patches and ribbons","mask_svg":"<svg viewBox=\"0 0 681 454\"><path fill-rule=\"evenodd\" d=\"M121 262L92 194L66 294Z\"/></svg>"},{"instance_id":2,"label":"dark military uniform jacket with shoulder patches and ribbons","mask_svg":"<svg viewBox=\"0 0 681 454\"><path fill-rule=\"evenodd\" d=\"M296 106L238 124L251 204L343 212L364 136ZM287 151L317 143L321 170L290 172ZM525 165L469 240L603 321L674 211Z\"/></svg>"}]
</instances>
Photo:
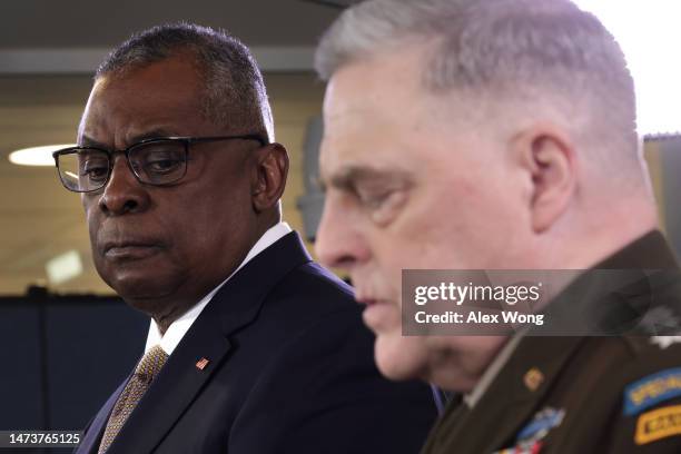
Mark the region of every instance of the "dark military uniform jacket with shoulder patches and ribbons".
<instances>
[{"instance_id":1,"label":"dark military uniform jacket with shoulder patches and ribbons","mask_svg":"<svg viewBox=\"0 0 681 454\"><path fill-rule=\"evenodd\" d=\"M647 317L662 314L653 329L681 333L681 274L660 233L595 268L664 270L648 279L649 298L591 303L608 309L611 327L632 328L643 299ZM563 296L580 294L583 284L578 279ZM681 453L681 337L636 329L608 337L525 336L473 408L447 407L423 453Z\"/></svg>"}]
</instances>

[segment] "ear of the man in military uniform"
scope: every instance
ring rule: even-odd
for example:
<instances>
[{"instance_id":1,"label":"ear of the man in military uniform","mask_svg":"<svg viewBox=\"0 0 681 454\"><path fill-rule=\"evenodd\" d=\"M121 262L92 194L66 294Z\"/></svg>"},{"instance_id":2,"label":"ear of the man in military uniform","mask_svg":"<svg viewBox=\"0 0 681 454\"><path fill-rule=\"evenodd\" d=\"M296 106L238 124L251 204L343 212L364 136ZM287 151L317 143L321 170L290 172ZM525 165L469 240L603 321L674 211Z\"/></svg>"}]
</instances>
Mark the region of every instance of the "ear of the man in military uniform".
<instances>
[{"instance_id":1,"label":"ear of the man in military uniform","mask_svg":"<svg viewBox=\"0 0 681 454\"><path fill-rule=\"evenodd\" d=\"M530 175L532 229L541 234L568 210L575 196L574 145L555 127L535 126L517 135L512 148Z\"/></svg>"}]
</instances>

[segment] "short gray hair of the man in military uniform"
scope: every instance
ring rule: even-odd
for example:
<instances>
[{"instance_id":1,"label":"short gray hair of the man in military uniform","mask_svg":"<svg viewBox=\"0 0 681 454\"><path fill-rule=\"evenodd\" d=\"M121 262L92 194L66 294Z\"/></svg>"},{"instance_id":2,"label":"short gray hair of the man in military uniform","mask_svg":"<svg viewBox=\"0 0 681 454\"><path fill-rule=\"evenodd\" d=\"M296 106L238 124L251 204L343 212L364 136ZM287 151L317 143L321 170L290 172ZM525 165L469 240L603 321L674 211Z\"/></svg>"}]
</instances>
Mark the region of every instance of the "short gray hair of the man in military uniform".
<instances>
[{"instance_id":1,"label":"short gray hair of the man in military uniform","mask_svg":"<svg viewBox=\"0 0 681 454\"><path fill-rule=\"evenodd\" d=\"M433 42L422 71L428 91L553 103L547 108L560 110L594 148L606 142L620 156L624 148L639 162L624 55L602 23L571 1L367 0L344 11L325 33L315 66L328 80L340 67L409 41Z\"/></svg>"}]
</instances>

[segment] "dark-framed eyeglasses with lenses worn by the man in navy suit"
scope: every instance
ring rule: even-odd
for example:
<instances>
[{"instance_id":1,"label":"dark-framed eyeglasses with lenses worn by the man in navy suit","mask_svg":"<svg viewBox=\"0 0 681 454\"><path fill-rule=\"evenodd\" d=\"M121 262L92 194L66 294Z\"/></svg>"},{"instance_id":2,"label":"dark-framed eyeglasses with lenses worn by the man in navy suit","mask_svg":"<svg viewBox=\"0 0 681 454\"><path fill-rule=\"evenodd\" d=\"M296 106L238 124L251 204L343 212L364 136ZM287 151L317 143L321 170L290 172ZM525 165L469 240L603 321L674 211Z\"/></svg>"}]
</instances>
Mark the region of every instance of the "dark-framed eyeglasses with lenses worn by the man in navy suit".
<instances>
[{"instance_id":1,"label":"dark-framed eyeglasses with lenses worn by the man in navy suit","mask_svg":"<svg viewBox=\"0 0 681 454\"><path fill-rule=\"evenodd\" d=\"M92 193L103 188L114 169L114 156L125 154L128 167L139 182L154 186L176 184L187 174L189 146L219 140L255 140L265 146L259 135L219 137L159 137L132 144L125 150L99 147L71 147L52 154L59 179L73 193Z\"/></svg>"}]
</instances>

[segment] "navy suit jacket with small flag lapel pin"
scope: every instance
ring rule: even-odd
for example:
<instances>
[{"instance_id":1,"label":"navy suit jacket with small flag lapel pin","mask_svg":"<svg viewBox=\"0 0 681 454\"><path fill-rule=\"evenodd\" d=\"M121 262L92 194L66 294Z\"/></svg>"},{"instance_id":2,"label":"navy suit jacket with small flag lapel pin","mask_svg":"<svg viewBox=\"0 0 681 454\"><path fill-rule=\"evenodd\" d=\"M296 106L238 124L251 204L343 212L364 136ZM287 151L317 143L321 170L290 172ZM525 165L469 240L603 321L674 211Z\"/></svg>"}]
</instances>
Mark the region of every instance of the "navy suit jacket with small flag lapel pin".
<instances>
[{"instance_id":1,"label":"navy suit jacket with small flag lapel pin","mask_svg":"<svg viewBox=\"0 0 681 454\"><path fill-rule=\"evenodd\" d=\"M373 344L349 287L292 233L220 288L108 453L415 453L431 391L381 377ZM124 387L77 453L97 452Z\"/></svg>"}]
</instances>

